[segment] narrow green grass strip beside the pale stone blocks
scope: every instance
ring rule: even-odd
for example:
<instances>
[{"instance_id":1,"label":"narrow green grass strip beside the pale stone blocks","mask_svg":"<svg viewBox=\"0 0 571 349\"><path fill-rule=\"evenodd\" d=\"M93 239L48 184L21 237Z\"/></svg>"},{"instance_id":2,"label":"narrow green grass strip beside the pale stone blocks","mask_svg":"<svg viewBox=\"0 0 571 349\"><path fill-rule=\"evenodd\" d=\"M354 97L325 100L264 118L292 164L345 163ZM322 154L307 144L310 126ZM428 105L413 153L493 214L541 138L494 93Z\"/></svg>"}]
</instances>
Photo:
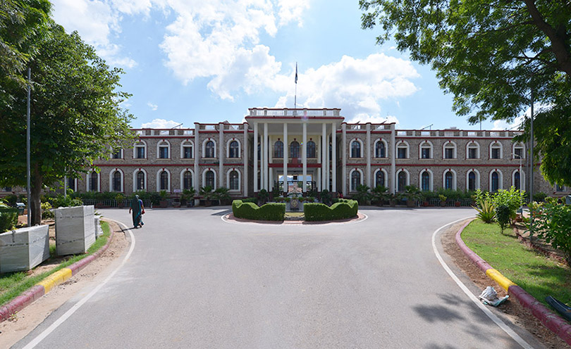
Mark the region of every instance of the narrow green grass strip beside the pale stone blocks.
<instances>
[{"instance_id":1,"label":"narrow green grass strip beside the pale stone blocks","mask_svg":"<svg viewBox=\"0 0 571 349\"><path fill-rule=\"evenodd\" d=\"M87 253L82 255L72 255L68 258L62 260L59 265L54 265L53 269L48 270L47 272L43 272L42 274L37 274L35 276L28 276L26 272L13 272L13 273L6 273L0 276L0 305L4 305L8 303L13 298L20 296L21 293L25 292L28 288L31 288L39 281L42 281L49 275L54 274L59 269L68 267L73 263L77 262L78 260L82 260L83 258L91 255L92 253L102 248L109 240L109 236L111 235L111 228L107 222L102 222L103 228L103 236L100 237L93 243L92 246L87 250ZM52 246L50 246L50 255L51 258L55 255L55 246L52 251ZM50 259L51 259L50 258Z\"/></svg>"}]
</instances>

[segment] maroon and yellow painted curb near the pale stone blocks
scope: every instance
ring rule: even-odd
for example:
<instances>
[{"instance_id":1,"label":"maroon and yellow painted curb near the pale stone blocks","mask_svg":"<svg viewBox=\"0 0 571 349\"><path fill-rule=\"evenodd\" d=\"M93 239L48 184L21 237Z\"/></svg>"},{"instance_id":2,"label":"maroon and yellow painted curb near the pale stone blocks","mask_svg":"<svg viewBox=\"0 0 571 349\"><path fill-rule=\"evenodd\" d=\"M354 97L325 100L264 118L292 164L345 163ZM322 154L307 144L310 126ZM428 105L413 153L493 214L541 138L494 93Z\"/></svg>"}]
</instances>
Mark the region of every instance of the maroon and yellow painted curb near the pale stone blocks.
<instances>
[{"instance_id":1,"label":"maroon and yellow painted curb near the pale stone blocks","mask_svg":"<svg viewBox=\"0 0 571 349\"><path fill-rule=\"evenodd\" d=\"M77 262L69 265L68 267L59 269L54 274L51 274L49 277L39 281L35 286L28 289L20 296L11 300L8 304L0 307L0 322L9 319L11 315L20 310L23 310L27 305L34 303L38 298L44 296L44 294L51 291L52 288L58 286L59 284L63 284L66 282L70 277L77 274L81 269L83 269L86 265L90 264L95 258L98 258L102 255L109 245L111 245L111 241L113 241L113 229L111 229L111 235L109 235L109 240L107 243L102 247L99 248L96 252L92 255L88 255L87 257L83 258L82 260L78 260Z\"/></svg>"}]
</instances>

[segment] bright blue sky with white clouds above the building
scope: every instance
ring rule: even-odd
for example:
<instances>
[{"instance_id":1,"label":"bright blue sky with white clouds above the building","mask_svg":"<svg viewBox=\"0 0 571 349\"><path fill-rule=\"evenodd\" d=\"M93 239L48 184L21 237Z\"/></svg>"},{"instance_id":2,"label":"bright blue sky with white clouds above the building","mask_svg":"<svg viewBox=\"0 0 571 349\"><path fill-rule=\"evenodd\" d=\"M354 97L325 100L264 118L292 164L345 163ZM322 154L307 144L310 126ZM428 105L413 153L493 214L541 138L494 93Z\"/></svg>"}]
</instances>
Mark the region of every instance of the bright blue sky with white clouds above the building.
<instances>
[{"instance_id":1,"label":"bright blue sky with white clouds above the building","mask_svg":"<svg viewBox=\"0 0 571 349\"><path fill-rule=\"evenodd\" d=\"M361 29L356 0L51 2L56 23L124 70L134 128L239 123L248 108L293 108L296 95L297 108L340 108L346 122L480 127L455 115L429 66L376 45L381 28Z\"/></svg>"}]
</instances>

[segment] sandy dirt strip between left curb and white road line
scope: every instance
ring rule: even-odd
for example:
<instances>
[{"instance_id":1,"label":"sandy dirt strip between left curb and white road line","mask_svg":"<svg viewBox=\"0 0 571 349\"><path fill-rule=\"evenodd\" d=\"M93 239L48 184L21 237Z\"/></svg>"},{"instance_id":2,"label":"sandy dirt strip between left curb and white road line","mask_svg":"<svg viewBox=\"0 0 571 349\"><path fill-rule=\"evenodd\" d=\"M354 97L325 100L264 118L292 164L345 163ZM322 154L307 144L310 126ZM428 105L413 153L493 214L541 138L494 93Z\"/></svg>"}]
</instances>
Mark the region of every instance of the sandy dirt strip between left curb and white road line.
<instances>
[{"instance_id":1,"label":"sandy dirt strip between left curb and white road line","mask_svg":"<svg viewBox=\"0 0 571 349\"><path fill-rule=\"evenodd\" d=\"M75 296L87 284L97 279L103 279L104 274L106 274L106 268L113 260L121 256L125 248L129 246L129 240L125 235L127 234L126 231L123 232L115 222L105 221L109 222L109 227L113 230L113 240L105 253L92 261L78 274L68 279L68 281L56 286L42 298L16 313L13 318L1 322L0 348L10 348L35 329L51 312L54 312L63 303Z\"/></svg>"}]
</instances>

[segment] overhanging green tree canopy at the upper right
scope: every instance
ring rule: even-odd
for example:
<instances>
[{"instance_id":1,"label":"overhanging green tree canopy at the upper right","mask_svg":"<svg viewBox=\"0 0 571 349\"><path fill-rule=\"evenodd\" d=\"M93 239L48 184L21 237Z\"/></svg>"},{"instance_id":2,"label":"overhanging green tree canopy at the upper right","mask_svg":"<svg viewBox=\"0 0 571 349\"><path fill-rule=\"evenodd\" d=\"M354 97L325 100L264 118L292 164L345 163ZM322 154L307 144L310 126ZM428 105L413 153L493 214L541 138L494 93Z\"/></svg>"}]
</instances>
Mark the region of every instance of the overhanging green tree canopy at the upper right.
<instances>
[{"instance_id":1,"label":"overhanging green tree canopy at the upper right","mask_svg":"<svg viewBox=\"0 0 571 349\"><path fill-rule=\"evenodd\" d=\"M400 51L431 64L469 122L512 122L529 108L533 87L542 172L571 185L569 0L360 0L360 8L363 28L382 28L378 44L393 37Z\"/></svg>"}]
</instances>

